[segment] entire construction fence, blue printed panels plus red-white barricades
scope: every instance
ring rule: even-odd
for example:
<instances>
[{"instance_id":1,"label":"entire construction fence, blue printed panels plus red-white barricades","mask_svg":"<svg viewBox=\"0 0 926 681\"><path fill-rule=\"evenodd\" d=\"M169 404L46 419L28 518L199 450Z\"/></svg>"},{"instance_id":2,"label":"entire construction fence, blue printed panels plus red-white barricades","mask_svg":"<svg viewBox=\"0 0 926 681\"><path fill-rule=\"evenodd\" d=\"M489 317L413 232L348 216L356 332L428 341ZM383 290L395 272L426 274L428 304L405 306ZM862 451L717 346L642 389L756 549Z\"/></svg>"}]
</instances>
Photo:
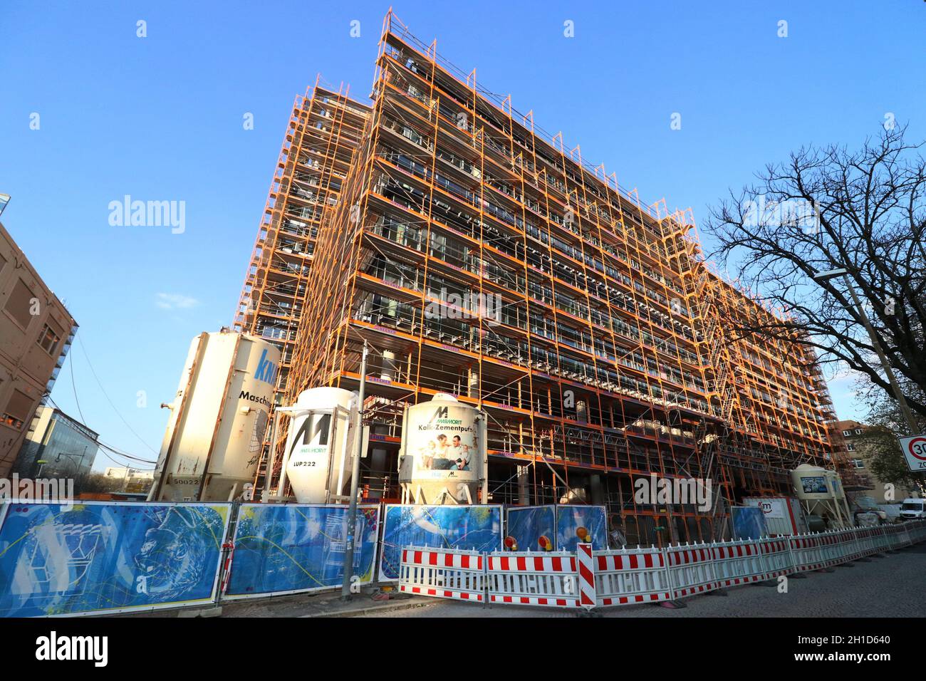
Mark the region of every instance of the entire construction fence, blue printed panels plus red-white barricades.
<instances>
[{"instance_id":1,"label":"entire construction fence, blue printed panels plus red-white barricades","mask_svg":"<svg viewBox=\"0 0 926 681\"><path fill-rule=\"evenodd\" d=\"M361 504L353 533L354 582L397 580L410 593L482 603L594 607L681 599L926 538L926 522L917 521L607 550L601 507L533 511L537 522L521 525L506 523L504 511L498 505ZM509 515L519 517L525 516ZM347 523L344 505L0 503L0 617L212 607L338 589ZM503 551L506 528L518 527L530 530L524 546L536 541L546 550Z\"/></svg>"}]
</instances>

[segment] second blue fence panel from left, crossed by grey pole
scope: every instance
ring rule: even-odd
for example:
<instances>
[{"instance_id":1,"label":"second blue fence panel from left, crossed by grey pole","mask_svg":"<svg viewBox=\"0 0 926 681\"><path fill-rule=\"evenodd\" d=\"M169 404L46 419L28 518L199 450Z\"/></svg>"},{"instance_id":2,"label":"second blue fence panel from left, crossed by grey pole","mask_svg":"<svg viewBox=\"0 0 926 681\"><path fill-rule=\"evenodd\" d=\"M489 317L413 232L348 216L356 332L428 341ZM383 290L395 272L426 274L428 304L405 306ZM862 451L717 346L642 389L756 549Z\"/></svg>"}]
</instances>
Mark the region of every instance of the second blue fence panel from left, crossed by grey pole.
<instances>
[{"instance_id":1,"label":"second blue fence panel from left, crossed by grey pole","mask_svg":"<svg viewBox=\"0 0 926 681\"><path fill-rule=\"evenodd\" d=\"M222 599L278 596L344 583L347 507L242 504L235 525L232 570ZM372 581L380 507L357 507L354 574Z\"/></svg>"}]
</instances>

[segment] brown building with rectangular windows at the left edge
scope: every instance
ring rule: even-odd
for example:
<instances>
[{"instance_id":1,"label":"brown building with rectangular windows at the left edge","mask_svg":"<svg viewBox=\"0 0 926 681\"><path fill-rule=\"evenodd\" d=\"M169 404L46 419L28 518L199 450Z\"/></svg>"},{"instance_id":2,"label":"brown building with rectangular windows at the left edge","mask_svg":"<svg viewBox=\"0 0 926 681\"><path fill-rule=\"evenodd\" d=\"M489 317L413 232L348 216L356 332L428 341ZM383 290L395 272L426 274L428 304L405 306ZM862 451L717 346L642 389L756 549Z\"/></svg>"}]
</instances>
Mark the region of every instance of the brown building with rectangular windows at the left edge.
<instances>
[{"instance_id":1,"label":"brown building with rectangular windows at the left edge","mask_svg":"<svg viewBox=\"0 0 926 681\"><path fill-rule=\"evenodd\" d=\"M0 224L0 477L51 392L77 323Z\"/></svg>"}]
</instances>

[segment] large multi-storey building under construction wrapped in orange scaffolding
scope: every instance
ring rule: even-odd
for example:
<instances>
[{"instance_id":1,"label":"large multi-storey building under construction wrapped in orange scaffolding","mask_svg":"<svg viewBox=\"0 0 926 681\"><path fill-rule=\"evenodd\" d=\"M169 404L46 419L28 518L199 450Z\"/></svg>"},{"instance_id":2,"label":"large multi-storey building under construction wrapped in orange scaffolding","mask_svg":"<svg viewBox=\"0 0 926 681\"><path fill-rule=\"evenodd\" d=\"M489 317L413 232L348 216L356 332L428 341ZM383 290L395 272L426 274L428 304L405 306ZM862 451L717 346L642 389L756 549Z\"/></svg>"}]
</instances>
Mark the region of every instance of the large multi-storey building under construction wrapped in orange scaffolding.
<instances>
[{"instance_id":1,"label":"large multi-storey building under construction wrapped in orange scaffolding","mask_svg":"<svg viewBox=\"0 0 926 681\"><path fill-rule=\"evenodd\" d=\"M325 96L294 107L236 322L282 334L287 403L357 389L369 345L369 498L398 497L403 407L438 392L488 414L483 502L604 503L630 543L726 534L733 499L790 495L788 469L827 465L811 351L732 341L731 315L772 312L709 270L690 211L642 204L391 12L367 119ZM318 109L341 116L326 142ZM709 479L719 500L638 503L650 474Z\"/></svg>"}]
</instances>

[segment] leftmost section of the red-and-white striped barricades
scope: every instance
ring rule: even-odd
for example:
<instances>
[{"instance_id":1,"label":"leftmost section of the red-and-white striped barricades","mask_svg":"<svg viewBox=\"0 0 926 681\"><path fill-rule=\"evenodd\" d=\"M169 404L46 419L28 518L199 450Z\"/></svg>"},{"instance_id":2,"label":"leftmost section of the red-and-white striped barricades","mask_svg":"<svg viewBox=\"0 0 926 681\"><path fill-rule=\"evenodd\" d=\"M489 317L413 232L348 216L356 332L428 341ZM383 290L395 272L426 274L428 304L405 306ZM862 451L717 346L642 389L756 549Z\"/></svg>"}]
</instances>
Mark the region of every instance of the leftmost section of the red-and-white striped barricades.
<instances>
[{"instance_id":1,"label":"leftmost section of the red-and-white striped barricades","mask_svg":"<svg viewBox=\"0 0 926 681\"><path fill-rule=\"evenodd\" d=\"M438 599L485 601L485 561L479 551L402 549L399 590Z\"/></svg>"}]
</instances>

